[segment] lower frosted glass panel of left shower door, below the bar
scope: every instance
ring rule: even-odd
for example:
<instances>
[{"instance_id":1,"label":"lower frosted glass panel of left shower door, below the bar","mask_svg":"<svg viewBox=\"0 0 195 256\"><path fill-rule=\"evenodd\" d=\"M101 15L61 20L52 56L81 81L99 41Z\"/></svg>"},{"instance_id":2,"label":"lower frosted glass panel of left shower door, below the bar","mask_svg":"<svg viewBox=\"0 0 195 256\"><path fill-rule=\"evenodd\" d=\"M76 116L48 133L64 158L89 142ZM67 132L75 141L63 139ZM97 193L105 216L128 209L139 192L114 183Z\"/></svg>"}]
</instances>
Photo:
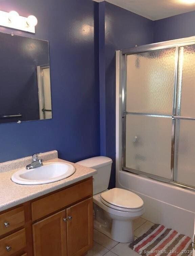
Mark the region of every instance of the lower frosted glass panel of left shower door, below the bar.
<instances>
[{"instance_id":1,"label":"lower frosted glass panel of left shower door, below the bar","mask_svg":"<svg viewBox=\"0 0 195 256\"><path fill-rule=\"evenodd\" d=\"M126 167L171 178L171 118L126 116Z\"/></svg>"}]
</instances>

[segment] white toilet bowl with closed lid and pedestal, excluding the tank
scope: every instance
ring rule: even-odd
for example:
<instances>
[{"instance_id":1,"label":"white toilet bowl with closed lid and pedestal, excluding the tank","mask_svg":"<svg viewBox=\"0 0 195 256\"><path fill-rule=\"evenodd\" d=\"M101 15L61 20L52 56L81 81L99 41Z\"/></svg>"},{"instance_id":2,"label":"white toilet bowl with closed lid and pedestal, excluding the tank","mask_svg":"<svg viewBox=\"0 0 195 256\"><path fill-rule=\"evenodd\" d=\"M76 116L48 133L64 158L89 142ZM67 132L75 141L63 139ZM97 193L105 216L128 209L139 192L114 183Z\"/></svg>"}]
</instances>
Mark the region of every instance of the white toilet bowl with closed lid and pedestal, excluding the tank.
<instances>
[{"instance_id":1,"label":"white toilet bowl with closed lid and pedestal, excluding the tank","mask_svg":"<svg viewBox=\"0 0 195 256\"><path fill-rule=\"evenodd\" d=\"M108 192L109 191L109 192ZM124 193L124 197L129 198L129 201L131 202L131 205L129 204L128 208L125 208L123 204L123 199L121 198L121 203L120 199L117 198L118 205L114 204L114 198L116 199L116 194L117 192L121 194ZM113 198L108 202L104 200L104 195L106 193L109 193L109 195ZM135 196L137 197L137 203L135 203ZM134 199L134 203L131 201L132 198ZM112 200L113 199L113 200ZM107 230L105 229L104 225L99 224L94 220L94 227L98 229L100 232L104 233L111 239L121 242L121 243L128 243L132 242L134 240L133 236L133 227L132 227L132 220L139 218L144 214L144 202L140 197L138 197L136 194L120 189L120 188L114 188L107 190L105 192L96 194L93 196L93 202L97 206L99 206L104 212L104 214L99 214L99 208L98 207L93 207L94 212L95 212L95 219L97 215L99 215L98 222L102 223L105 222L105 219L110 219L110 222L107 220L107 222L110 224L110 226L107 225ZM136 205L136 208L135 208ZM101 216L102 216L102 221L101 221ZM104 232L106 230L106 233Z\"/></svg>"}]
</instances>

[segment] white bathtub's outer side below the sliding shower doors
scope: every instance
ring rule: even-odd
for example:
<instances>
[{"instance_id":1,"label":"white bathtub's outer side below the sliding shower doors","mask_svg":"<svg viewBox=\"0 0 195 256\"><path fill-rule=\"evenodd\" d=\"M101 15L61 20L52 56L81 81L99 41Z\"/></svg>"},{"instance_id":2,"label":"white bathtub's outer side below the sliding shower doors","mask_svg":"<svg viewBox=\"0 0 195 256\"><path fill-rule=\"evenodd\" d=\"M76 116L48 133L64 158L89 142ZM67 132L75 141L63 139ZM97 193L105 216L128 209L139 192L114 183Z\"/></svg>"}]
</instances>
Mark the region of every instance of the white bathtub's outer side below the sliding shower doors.
<instances>
[{"instance_id":1,"label":"white bathtub's outer side below the sliding shower doors","mask_svg":"<svg viewBox=\"0 0 195 256\"><path fill-rule=\"evenodd\" d=\"M130 190L143 199L146 208L143 218L193 236L194 192L124 171L117 172L116 187Z\"/></svg>"}]
</instances>

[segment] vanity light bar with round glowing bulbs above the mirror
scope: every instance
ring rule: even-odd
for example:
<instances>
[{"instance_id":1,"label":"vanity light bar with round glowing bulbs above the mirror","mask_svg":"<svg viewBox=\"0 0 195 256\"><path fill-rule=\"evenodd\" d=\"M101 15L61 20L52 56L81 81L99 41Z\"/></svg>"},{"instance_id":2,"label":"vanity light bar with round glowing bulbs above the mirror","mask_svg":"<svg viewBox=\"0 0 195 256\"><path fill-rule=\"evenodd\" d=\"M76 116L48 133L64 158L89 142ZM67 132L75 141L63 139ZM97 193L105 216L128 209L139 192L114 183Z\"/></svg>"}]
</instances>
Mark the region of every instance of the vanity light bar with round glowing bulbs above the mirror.
<instances>
[{"instance_id":1,"label":"vanity light bar with round glowing bulbs above the mirror","mask_svg":"<svg viewBox=\"0 0 195 256\"><path fill-rule=\"evenodd\" d=\"M0 26L35 33L37 18L30 15L27 18L20 16L16 11L9 13L0 11Z\"/></svg>"}]
</instances>

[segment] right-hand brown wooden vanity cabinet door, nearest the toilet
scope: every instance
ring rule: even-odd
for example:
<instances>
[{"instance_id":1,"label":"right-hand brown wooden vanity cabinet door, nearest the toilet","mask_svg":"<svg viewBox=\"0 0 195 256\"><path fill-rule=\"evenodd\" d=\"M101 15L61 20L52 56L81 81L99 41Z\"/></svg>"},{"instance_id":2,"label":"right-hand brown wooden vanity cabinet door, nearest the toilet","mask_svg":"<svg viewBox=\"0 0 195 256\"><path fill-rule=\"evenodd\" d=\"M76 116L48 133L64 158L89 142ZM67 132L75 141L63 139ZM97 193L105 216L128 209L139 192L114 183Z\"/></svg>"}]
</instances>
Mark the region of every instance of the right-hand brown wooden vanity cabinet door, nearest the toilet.
<instances>
[{"instance_id":1,"label":"right-hand brown wooden vanity cabinet door, nearest the toilet","mask_svg":"<svg viewBox=\"0 0 195 256\"><path fill-rule=\"evenodd\" d=\"M84 255L93 245L93 199L67 209L67 254Z\"/></svg>"}]
</instances>

